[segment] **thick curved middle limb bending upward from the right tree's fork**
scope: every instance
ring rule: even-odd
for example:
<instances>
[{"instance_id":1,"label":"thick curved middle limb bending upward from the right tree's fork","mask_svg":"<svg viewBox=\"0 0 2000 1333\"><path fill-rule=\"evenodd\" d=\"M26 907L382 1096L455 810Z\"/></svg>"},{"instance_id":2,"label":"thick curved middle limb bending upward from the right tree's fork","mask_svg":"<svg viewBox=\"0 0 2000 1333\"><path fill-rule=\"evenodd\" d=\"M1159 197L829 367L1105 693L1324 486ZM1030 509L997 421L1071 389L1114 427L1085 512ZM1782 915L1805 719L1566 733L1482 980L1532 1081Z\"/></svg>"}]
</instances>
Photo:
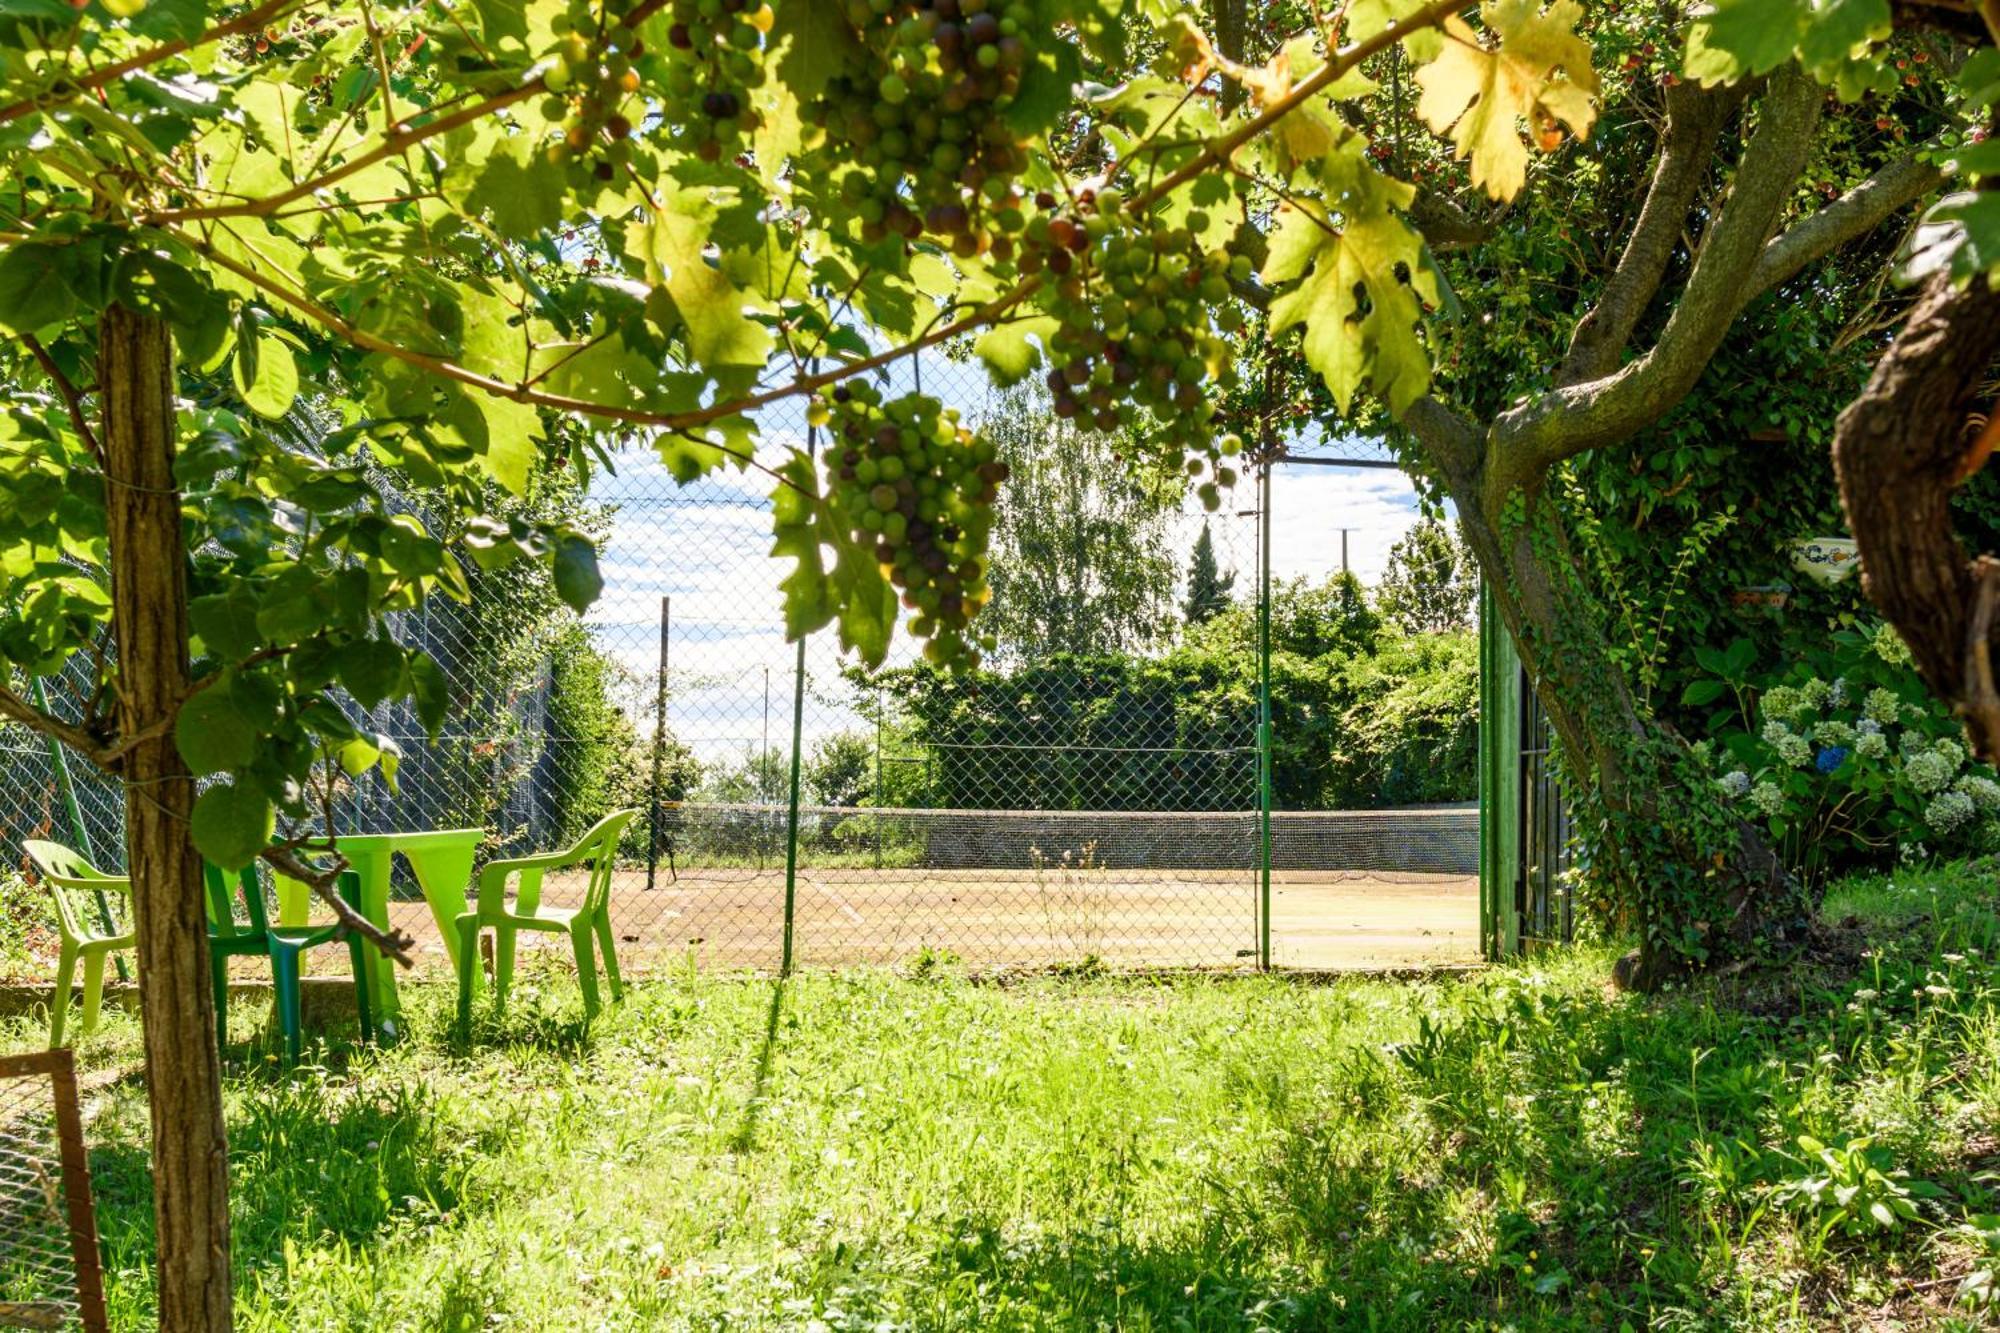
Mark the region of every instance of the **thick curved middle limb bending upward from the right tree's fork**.
<instances>
[{"instance_id":1,"label":"thick curved middle limb bending upward from the right tree's fork","mask_svg":"<svg viewBox=\"0 0 2000 1333\"><path fill-rule=\"evenodd\" d=\"M1702 236L1688 286L1660 340L1612 374L1554 388L1502 412L1488 456L1510 480L1526 482L1564 458L1624 440L1694 388L1752 296L1750 274L1792 198L1824 100L1824 90L1798 66L1772 76L1728 202Z\"/></svg>"}]
</instances>

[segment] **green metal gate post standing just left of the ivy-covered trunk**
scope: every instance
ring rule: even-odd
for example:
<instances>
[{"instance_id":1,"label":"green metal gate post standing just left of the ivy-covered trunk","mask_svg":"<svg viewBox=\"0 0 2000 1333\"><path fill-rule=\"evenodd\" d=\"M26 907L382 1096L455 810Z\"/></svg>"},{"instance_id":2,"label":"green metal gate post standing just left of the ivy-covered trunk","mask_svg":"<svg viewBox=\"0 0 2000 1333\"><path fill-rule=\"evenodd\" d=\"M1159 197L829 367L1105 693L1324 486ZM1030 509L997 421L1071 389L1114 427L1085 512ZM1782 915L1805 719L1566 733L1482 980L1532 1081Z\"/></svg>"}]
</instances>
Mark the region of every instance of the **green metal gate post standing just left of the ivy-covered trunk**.
<instances>
[{"instance_id":1,"label":"green metal gate post standing just left of the ivy-covered trunk","mask_svg":"<svg viewBox=\"0 0 2000 1333\"><path fill-rule=\"evenodd\" d=\"M1480 953L1520 953L1520 654L1480 584Z\"/></svg>"}]
</instances>

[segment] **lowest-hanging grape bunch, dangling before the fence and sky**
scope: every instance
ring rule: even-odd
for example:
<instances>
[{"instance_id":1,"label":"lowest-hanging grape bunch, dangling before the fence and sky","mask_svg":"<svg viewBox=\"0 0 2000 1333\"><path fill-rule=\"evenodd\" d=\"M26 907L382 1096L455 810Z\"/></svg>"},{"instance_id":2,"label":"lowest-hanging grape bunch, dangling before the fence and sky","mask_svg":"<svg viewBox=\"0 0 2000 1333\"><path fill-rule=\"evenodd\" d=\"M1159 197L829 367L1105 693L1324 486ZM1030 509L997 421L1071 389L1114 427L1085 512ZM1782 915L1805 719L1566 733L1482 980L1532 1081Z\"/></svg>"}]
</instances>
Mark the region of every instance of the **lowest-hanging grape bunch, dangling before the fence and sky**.
<instances>
[{"instance_id":1,"label":"lowest-hanging grape bunch, dangling before the fence and sky","mask_svg":"<svg viewBox=\"0 0 2000 1333\"><path fill-rule=\"evenodd\" d=\"M1008 468L984 434L926 394L884 402L864 380L814 398L808 420L832 432L826 472L832 500L854 540L874 548L910 632L928 640L940 666L976 666L968 636L986 604L986 544L994 500ZM982 646L992 648L992 640Z\"/></svg>"}]
</instances>

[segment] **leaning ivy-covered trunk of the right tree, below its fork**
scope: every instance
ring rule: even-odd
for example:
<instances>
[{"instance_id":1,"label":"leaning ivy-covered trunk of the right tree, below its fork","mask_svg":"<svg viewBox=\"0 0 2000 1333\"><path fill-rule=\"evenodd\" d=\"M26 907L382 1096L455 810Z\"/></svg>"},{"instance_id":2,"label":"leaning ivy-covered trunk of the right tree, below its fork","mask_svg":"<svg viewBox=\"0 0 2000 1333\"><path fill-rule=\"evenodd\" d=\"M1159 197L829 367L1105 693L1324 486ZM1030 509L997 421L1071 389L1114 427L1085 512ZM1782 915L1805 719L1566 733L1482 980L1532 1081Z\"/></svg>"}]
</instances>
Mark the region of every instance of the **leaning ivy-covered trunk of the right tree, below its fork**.
<instances>
[{"instance_id":1,"label":"leaning ivy-covered trunk of the right tree, below its fork","mask_svg":"<svg viewBox=\"0 0 2000 1333\"><path fill-rule=\"evenodd\" d=\"M1476 480L1452 490L1564 769L1582 787L1570 797L1592 837L1592 869L1632 913L1640 945L1618 981L1648 991L1690 963L1794 935L1798 887L1756 829L1710 795L1686 741L1642 713L1546 490L1486 494Z\"/></svg>"}]
</instances>

